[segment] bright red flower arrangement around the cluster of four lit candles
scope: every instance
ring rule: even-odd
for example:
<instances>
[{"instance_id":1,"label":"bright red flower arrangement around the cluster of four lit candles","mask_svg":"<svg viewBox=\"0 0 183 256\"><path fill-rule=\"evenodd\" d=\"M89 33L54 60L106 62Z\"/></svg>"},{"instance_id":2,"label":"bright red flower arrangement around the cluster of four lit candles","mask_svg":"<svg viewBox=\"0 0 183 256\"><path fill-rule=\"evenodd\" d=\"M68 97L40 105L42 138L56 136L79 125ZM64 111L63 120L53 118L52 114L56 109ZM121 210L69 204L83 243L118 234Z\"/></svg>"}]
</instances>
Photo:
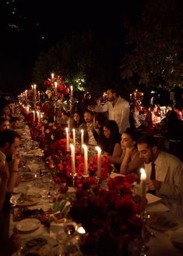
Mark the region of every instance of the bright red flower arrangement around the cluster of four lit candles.
<instances>
[{"instance_id":1,"label":"bright red flower arrangement around the cluster of four lit candles","mask_svg":"<svg viewBox=\"0 0 183 256\"><path fill-rule=\"evenodd\" d=\"M48 167L52 170L53 179L56 183L68 189L73 186L72 171L71 171L71 154L66 152L66 140L59 139L50 144L49 152L47 153L46 162ZM101 157L101 180L105 180L112 171L110 160L107 157ZM97 183L97 154L88 159L88 178L83 177L84 174L84 157L80 152L80 148L76 147L76 175L75 186L76 188L83 187L83 181L88 178L93 178ZM65 190L64 189L64 192ZM62 192L62 191L61 191Z\"/></svg>"}]
</instances>

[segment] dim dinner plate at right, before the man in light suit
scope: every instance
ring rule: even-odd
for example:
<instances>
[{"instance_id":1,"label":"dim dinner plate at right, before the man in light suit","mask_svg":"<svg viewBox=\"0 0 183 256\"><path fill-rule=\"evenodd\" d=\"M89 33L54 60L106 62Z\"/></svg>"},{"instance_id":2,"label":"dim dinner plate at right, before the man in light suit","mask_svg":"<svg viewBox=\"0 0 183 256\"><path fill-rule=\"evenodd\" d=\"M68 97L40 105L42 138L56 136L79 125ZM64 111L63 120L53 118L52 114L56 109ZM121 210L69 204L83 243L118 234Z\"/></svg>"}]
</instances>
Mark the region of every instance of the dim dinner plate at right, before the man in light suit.
<instances>
[{"instance_id":1,"label":"dim dinner plate at right, before the man in light suit","mask_svg":"<svg viewBox=\"0 0 183 256\"><path fill-rule=\"evenodd\" d=\"M178 228L178 219L167 212L152 212L150 219L147 220L147 225L150 225L152 229L162 231L174 230Z\"/></svg>"}]
</instances>

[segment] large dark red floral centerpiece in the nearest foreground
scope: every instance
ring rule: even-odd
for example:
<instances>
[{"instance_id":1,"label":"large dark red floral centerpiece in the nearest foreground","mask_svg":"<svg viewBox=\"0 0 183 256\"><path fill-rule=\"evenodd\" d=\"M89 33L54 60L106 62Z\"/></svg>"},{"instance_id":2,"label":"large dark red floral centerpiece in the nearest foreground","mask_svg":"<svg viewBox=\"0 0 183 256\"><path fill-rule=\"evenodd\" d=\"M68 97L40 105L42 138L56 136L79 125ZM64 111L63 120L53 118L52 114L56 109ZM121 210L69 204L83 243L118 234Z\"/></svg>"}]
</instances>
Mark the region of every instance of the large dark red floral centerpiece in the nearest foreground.
<instances>
[{"instance_id":1,"label":"large dark red floral centerpiece in the nearest foreground","mask_svg":"<svg viewBox=\"0 0 183 256\"><path fill-rule=\"evenodd\" d=\"M132 175L107 179L107 189L92 180L76 192L70 214L83 225L81 251L90 255L128 255L128 244L141 233L140 205L132 195Z\"/></svg>"}]
</instances>

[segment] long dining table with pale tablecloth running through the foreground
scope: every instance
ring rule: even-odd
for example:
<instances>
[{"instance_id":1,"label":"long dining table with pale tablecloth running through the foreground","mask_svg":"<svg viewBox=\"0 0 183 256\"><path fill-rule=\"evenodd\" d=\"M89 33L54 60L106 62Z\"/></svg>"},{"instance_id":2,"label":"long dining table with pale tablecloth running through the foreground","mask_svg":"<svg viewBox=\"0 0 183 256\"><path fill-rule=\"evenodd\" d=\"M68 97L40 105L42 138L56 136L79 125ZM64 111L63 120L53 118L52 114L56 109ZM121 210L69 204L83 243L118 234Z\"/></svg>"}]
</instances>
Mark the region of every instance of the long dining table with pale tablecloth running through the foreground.
<instances>
[{"instance_id":1,"label":"long dining table with pale tablecloth running through the foreground","mask_svg":"<svg viewBox=\"0 0 183 256\"><path fill-rule=\"evenodd\" d=\"M22 131L23 133L23 131ZM55 216L59 215L57 207L55 206L55 197L59 197L57 186L52 180L51 172L47 165L41 160L43 151L39 148L37 143L31 141L30 135L23 133L23 165L19 168L19 175L22 181L19 186L13 190L11 203L12 211L9 220L9 236L16 230L22 240L23 247L28 240L33 238L45 238L51 244L50 256L62 255L83 255L79 251L78 236L75 236L75 251L64 251L65 234L63 232L64 223L57 222ZM27 146L27 142L29 142ZM25 144L26 143L26 144ZM26 147L25 147L26 145ZM112 173L111 177L118 174ZM67 195L61 197L64 207L69 209L69 197L72 197L75 189L69 188ZM26 196L35 196L27 204L25 203ZM19 200L22 197L22 200ZM20 198L21 199L21 198ZM21 215L26 212L27 215ZM149 240L146 241L146 255L183 255L183 240L182 243L178 240L178 234L182 233L183 238L183 218L174 215L164 207L160 200L150 202L147 205L146 211L150 216L155 215L167 218L168 223L173 223L174 226L156 226L147 221L147 229L149 230ZM29 215L34 213L35 216ZM28 217L27 217L28 216ZM43 219L41 219L41 216ZM36 222L35 219L38 219ZM55 220L56 219L56 220ZM61 218L62 219L62 218ZM72 222L72 220L69 220ZM74 224L76 225L76 223ZM26 255L23 254L23 247L21 250L13 254L13 256ZM139 255L137 252L132 255Z\"/></svg>"}]
</instances>

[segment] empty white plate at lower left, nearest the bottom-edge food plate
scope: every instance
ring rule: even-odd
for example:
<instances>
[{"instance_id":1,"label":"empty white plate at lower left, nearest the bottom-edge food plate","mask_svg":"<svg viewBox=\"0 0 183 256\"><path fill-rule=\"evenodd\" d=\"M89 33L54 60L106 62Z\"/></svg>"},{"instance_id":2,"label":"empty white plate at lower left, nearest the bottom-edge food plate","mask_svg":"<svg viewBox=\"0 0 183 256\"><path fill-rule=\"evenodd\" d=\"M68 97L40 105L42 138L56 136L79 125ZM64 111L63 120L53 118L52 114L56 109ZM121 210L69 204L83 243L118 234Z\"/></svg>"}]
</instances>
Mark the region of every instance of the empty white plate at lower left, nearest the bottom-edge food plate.
<instances>
[{"instance_id":1,"label":"empty white plate at lower left, nearest the bottom-edge food plate","mask_svg":"<svg viewBox=\"0 0 183 256\"><path fill-rule=\"evenodd\" d=\"M40 221L37 218L25 218L16 223L16 229L20 232L32 232L40 227Z\"/></svg>"}]
</instances>

